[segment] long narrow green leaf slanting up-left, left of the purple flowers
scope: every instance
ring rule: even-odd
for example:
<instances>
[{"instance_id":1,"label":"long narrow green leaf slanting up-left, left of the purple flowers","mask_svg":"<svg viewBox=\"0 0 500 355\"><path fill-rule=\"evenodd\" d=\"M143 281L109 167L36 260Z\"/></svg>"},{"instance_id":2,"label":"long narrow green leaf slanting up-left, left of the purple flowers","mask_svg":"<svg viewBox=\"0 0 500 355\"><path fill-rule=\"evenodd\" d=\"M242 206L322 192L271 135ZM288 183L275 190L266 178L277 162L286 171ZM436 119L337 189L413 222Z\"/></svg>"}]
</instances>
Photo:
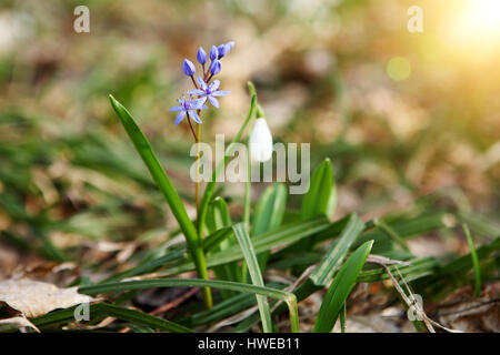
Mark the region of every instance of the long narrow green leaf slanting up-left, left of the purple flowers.
<instances>
[{"instance_id":1,"label":"long narrow green leaf slanting up-left, left of the purple flowers","mask_svg":"<svg viewBox=\"0 0 500 355\"><path fill-rule=\"evenodd\" d=\"M186 212L186 207L182 204L179 194L170 182L169 176L167 175L164 169L161 166L160 161L154 154L151 145L149 144L148 139L142 133L142 131L137 125L133 118L130 115L129 111L118 102L112 95L109 95L111 101L111 105L117 112L123 128L129 134L130 140L132 141L136 150L139 155L142 158L146 166L151 173L152 179L157 183L158 187L162 192L164 199L167 200L170 209L172 210L176 220L179 222L179 226L182 230L182 233L186 236L186 241L188 242L189 250L191 252L192 258L194 261L198 275L202 278L208 278L207 266L204 264L204 255L201 246L201 240L197 234L197 230L194 229L193 223L188 216ZM207 306L211 305L211 294L210 290L203 290L203 298L206 301Z\"/></svg>"}]
</instances>

